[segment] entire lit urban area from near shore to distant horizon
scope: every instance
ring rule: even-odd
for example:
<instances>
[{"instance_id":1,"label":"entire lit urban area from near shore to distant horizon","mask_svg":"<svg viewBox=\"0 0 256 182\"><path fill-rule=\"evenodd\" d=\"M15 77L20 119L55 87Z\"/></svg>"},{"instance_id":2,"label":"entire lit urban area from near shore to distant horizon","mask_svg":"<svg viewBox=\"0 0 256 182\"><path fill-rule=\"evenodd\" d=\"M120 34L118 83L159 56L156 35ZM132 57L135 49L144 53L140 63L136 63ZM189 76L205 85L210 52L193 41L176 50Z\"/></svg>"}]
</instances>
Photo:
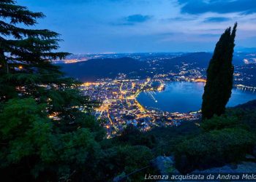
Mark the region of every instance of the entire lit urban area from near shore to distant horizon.
<instances>
[{"instance_id":1,"label":"entire lit urban area from near shore to distant horizon","mask_svg":"<svg viewBox=\"0 0 256 182\"><path fill-rule=\"evenodd\" d=\"M98 54L98 55L74 55L63 63L86 63L86 59L122 58L125 55ZM153 127L178 126L181 122L194 121L200 118L200 111L191 112L169 112L159 108L142 106L137 100L140 92L145 92L148 98L158 102L154 95L165 90L168 82L206 82L206 68L197 66L196 63L179 63L169 71L162 71L164 68L159 63L165 61L162 55L156 58L148 58L148 54L127 55L131 58L140 59L150 64L143 73L147 76L134 76L130 73L119 73L115 78L107 75L104 78L84 82L80 87L84 95L89 95L91 100L98 100L101 104L93 112L97 121L105 127L107 137L118 135L132 124L141 131L151 130ZM170 56L170 55L169 55ZM178 56L178 55L176 55ZM176 58L173 54L173 58ZM255 55L250 55L253 61ZM74 60L71 61L70 60ZM239 90L255 92L254 74L248 74L246 69L254 68L254 63L236 66L234 73L234 87ZM132 73L132 71L130 71ZM149 76L148 76L149 74Z\"/></svg>"}]
</instances>

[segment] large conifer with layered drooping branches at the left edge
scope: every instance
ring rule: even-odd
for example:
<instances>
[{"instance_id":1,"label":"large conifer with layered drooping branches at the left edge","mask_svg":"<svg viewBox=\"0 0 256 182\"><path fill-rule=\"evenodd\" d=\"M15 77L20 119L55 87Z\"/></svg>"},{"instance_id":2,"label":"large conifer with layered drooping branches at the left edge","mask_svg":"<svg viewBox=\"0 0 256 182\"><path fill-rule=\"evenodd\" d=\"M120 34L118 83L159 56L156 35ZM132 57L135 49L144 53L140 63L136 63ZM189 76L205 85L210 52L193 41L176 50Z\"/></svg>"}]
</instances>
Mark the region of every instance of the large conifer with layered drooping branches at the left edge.
<instances>
[{"instance_id":1,"label":"large conifer with layered drooping branches at the left edge","mask_svg":"<svg viewBox=\"0 0 256 182\"><path fill-rule=\"evenodd\" d=\"M61 41L59 33L19 28L20 24L35 25L44 15L13 0L0 2L0 16L0 102L34 98L47 103L48 115L58 118L62 129L77 127L75 120L81 119L81 111L89 113L98 103L83 96L78 90L80 82L64 77L59 66L51 63L69 55L54 52Z\"/></svg>"}]
</instances>

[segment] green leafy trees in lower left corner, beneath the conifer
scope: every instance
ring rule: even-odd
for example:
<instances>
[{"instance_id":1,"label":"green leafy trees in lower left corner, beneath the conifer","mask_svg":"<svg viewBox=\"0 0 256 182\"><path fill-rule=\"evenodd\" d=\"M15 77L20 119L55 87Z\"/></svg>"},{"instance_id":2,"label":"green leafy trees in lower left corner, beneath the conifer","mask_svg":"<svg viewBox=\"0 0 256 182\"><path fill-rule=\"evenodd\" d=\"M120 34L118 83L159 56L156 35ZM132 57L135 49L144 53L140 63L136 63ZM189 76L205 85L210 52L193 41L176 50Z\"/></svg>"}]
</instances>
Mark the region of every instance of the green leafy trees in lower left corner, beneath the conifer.
<instances>
[{"instance_id":1,"label":"green leafy trees in lower left corner, beneath the conifer","mask_svg":"<svg viewBox=\"0 0 256 182\"><path fill-rule=\"evenodd\" d=\"M1 176L21 180L26 174L42 179L46 173L48 180L57 180L97 159L100 146L89 128L56 132L45 106L32 98L9 100L2 106L0 121ZM12 170L17 170L17 176L11 175Z\"/></svg>"}]
</instances>

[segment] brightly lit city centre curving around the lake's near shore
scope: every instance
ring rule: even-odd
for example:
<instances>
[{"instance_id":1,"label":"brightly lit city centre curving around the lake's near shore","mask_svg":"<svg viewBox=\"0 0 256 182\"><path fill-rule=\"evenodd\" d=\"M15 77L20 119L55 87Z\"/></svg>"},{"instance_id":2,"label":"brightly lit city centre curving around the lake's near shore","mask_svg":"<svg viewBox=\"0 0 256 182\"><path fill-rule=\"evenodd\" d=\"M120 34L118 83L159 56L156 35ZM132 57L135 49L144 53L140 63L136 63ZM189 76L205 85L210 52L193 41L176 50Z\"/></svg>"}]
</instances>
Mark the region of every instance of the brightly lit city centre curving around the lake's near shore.
<instances>
[{"instance_id":1,"label":"brightly lit city centre curving around the lake's near shore","mask_svg":"<svg viewBox=\"0 0 256 182\"><path fill-rule=\"evenodd\" d=\"M152 87L155 81L146 80L106 80L102 82L84 83L81 88L85 95L93 100L100 100L102 105L96 109L95 116L107 129L108 137L122 131L127 124L133 124L142 131L151 130L152 127L178 126L183 121L197 119L199 112L186 114L169 113L147 109L136 100L140 92L148 92L151 99L155 92L164 89L164 83Z\"/></svg>"}]
</instances>

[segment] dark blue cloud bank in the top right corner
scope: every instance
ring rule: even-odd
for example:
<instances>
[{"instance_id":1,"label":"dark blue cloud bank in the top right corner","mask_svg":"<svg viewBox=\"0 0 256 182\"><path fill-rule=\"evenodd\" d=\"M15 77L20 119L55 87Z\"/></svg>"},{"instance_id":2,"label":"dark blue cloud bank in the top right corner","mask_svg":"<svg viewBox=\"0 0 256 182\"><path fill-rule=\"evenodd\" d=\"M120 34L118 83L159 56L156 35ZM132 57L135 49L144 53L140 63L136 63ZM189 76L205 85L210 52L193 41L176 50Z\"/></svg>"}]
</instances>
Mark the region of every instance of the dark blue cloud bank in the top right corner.
<instances>
[{"instance_id":1,"label":"dark blue cloud bank in the top right corner","mask_svg":"<svg viewBox=\"0 0 256 182\"><path fill-rule=\"evenodd\" d=\"M182 5L182 13L193 15L206 12L241 12L244 14L252 14L256 12L255 0L178 0L178 3Z\"/></svg>"}]
</instances>

